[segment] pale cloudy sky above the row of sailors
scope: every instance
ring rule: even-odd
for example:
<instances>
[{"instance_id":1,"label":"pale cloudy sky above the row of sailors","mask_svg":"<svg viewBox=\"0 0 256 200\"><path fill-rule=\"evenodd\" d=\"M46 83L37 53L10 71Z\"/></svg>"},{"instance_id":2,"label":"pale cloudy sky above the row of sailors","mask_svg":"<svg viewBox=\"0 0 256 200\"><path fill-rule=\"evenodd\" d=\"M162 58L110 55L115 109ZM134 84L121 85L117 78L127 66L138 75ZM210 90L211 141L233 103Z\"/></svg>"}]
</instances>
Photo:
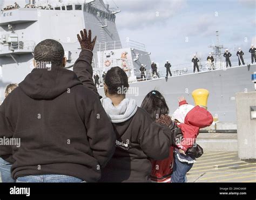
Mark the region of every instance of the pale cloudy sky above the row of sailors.
<instances>
[{"instance_id":1,"label":"pale cloudy sky above the row of sailors","mask_svg":"<svg viewBox=\"0 0 256 200\"><path fill-rule=\"evenodd\" d=\"M231 53L241 47L249 57L256 36L254 0L106 0L121 10L116 24L120 39L144 43L151 60L175 67L190 63L194 53L206 60L219 31L220 44ZM117 5L115 5L115 4ZM256 42L255 42L256 43ZM255 44L256 45L256 44ZM233 55L233 59L237 60ZM189 66L190 64L188 64Z\"/></svg>"}]
</instances>

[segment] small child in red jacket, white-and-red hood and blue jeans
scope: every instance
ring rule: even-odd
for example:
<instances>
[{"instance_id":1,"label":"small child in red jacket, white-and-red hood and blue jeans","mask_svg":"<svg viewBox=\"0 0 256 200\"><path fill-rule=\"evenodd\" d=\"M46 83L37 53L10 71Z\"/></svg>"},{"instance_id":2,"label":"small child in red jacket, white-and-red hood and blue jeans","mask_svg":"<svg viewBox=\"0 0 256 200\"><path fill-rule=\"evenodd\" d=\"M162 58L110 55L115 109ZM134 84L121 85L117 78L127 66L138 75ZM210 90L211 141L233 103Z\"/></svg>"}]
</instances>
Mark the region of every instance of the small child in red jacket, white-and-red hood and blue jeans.
<instances>
[{"instance_id":1,"label":"small child in red jacket, white-and-red hood and blue jeans","mask_svg":"<svg viewBox=\"0 0 256 200\"><path fill-rule=\"evenodd\" d=\"M210 126L213 117L205 108L188 105L186 99L182 96L179 98L179 108L172 114L172 120L176 121L183 137L176 141L176 147L174 147L171 181L186 182L186 173L196 162L196 157L199 157L194 154L199 148L196 143L199 129Z\"/></svg>"}]
</instances>

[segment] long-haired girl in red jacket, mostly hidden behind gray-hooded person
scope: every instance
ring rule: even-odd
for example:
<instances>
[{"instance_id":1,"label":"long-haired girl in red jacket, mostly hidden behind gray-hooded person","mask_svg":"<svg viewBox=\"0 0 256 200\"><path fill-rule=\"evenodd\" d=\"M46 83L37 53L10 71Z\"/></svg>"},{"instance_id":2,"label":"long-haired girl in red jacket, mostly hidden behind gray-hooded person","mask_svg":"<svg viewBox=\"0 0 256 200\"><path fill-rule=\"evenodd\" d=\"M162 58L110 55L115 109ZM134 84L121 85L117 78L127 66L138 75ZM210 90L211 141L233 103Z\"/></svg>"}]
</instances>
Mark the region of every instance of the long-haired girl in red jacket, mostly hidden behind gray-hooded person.
<instances>
[{"instance_id":1,"label":"long-haired girl in red jacket, mostly hidden behind gray-hooded person","mask_svg":"<svg viewBox=\"0 0 256 200\"><path fill-rule=\"evenodd\" d=\"M144 108L151 117L156 120L157 123L161 125L165 125L170 127L171 130L177 130L176 135L173 135L173 139L180 135L181 132L176 124L171 120L169 114L169 107L166 104L164 96L153 90L149 92L143 102L142 108ZM169 157L165 160L151 160L152 163L152 171L151 171L151 181L159 182L159 183L170 183L171 182L171 174L173 167L173 147L169 149Z\"/></svg>"}]
</instances>

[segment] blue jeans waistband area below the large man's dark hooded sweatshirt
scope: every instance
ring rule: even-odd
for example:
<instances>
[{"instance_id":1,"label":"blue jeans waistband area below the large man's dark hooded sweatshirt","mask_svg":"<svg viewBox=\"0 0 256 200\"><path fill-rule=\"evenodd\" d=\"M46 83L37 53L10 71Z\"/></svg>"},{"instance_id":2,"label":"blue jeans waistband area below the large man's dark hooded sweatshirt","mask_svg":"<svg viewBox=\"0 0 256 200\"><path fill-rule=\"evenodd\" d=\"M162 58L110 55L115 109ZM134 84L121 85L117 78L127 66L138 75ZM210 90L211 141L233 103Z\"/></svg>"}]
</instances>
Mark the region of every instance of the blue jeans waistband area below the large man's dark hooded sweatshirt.
<instances>
[{"instance_id":1,"label":"blue jeans waistband area below the large man's dark hooded sweatshirt","mask_svg":"<svg viewBox=\"0 0 256 200\"><path fill-rule=\"evenodd\" d=\"M16 183L85 183L85 181L66 175L32 175L18 177Z\"/></svg>"}]
</instances>

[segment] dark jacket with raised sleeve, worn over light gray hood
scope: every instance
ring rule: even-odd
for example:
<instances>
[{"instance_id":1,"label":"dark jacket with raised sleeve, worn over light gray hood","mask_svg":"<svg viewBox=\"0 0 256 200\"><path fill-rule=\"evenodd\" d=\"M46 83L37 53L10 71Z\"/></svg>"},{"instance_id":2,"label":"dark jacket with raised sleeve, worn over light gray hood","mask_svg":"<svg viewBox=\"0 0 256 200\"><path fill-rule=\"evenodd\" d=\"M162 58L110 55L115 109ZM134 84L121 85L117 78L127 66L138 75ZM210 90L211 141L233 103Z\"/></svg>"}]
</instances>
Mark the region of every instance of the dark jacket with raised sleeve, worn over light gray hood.
<instances>
[{"instance_id":1,"label":"dark jacket with raised sleeve, worn over light gray hood","mask_svg":"<svg viewBox=\"0 0 256 200\"><path fill-rule=\"evenodd\" d=\"M83 80L90 80L92 52L83 50L73 70ZM91 86L88 81L85 85ZM112 123L117 136L116 151L103 169L100 182L149 182L150 158L163 160L169 156L172 133L180 132L177 126L170 128L158 125L151 116L138 107L127 121Z\"/></svg>"}]
</instances>

